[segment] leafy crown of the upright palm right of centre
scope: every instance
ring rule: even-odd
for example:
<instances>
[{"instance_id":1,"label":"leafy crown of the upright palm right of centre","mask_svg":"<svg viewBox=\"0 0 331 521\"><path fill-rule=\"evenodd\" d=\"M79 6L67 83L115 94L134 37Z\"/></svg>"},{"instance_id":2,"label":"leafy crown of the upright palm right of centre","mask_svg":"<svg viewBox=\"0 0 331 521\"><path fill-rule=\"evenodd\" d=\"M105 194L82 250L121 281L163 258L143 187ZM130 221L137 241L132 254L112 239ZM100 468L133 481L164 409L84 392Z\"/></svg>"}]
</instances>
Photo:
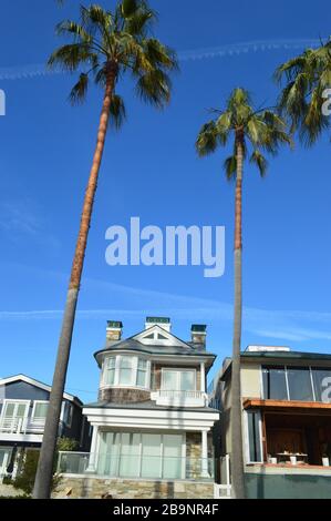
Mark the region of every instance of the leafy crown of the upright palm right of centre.
<instances>
[{"instance_id":1,"label":"leafy crown of the upright palm right of centre","mask_svg":"<svg viewBox=\"0 0 331 521\"><path fill-rule=\"evenodd\" d=\"M247 157L249 143L252 152L249 161L259 168L261 176L267 171L263 152L275 155L281 143L290 143L286 123L271 110L255 110L249 93L245 89L235 89L224 111L216 111L218 116L206 123L198 135L196 149L200 156L213 153L218 146L226 146L232 136L234 154L226 159L225 171L228 178L237 172L237 145L242 146L244 159Z\"/></svg>"}]
</instances>

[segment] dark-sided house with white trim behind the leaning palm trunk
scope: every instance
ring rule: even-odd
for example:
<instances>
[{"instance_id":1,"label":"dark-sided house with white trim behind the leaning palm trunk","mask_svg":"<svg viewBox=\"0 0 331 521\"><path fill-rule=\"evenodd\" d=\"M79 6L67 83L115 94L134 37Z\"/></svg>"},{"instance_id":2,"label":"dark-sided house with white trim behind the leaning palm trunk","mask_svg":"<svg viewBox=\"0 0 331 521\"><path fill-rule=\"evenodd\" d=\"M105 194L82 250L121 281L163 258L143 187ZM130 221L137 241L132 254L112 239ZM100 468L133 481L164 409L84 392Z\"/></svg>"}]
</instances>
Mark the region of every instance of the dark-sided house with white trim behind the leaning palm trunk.
<instances>
[{"instance_id":1,"label":"dark-sided house with white trim behind the leaning palm trunk","mask_svg":"<svg viewBox=\"0 0 331 521\"><path fill-rule=\"evenodd\" d=\"M24 375L0 379L0 479L15 474L22 452L40 449L50 391L50 386ZM79 398L63 395L59 437L89 450L90 426L82 409Z\"/></svg>"}]
</instances>

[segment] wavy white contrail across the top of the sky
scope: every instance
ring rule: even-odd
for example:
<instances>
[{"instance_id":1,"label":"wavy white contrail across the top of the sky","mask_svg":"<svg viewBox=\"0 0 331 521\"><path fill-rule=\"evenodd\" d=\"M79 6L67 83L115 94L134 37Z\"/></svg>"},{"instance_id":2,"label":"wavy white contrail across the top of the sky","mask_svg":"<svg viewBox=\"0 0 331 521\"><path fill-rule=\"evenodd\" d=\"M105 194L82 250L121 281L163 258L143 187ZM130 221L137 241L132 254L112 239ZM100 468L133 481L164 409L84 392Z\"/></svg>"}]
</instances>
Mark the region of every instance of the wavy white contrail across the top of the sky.
<instances>
[{"instance_id":1,"label":"wavy white contrail across the top of the sky","mask_svg":"<svg viewBox=\"0 0 331 521\"><path fill-rule=\"evenodd\" d=\"M320 40L261 40L252 42L232 43L210 49L194 49L178 52L179 61L196 61L211 58L236 57L240 54L270 52L278 50L303 50L308 47L318 47ZM44 64L31 64L21 67L0 67L0 80L25 80L38 76L61 74L61 71L50 71Z\"/></svg>"}]
</instances>

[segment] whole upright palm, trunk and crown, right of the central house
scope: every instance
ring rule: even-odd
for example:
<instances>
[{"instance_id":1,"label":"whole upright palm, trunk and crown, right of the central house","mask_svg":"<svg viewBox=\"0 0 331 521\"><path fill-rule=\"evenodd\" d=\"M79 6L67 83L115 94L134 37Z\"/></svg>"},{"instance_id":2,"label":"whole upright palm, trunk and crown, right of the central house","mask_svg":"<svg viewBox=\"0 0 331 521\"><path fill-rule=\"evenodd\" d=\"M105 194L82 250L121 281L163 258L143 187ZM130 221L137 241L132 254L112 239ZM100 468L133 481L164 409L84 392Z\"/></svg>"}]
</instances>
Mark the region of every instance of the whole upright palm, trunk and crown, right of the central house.
<instances>
[{"instance_id":1,"label":"whole upright palm, trunk and crown, right of the central house","mask_svg":"<svg viewBox=\"0 0 331 521\"><path fill-rule=\"evenodd\" d=\"M260 175L267 171L263 152L276 154L281 143L290 143L285 122L271 110L255 110L248 92L235 89L223 111L215 111L216 119L206 123L198 135L196 149L200 156L215 152L218 146L232 142L234 152L225 161L224 167L228 180L236 180L235 201L235 309L231 365L231 474L234 496L245 498L242 430L241 430L241 391L240 391L240 347L242 316L241 282L241 201L244 163L248 160L248 147L252 151L250 163L256 164Z\"/></svg>"}]
</instances>

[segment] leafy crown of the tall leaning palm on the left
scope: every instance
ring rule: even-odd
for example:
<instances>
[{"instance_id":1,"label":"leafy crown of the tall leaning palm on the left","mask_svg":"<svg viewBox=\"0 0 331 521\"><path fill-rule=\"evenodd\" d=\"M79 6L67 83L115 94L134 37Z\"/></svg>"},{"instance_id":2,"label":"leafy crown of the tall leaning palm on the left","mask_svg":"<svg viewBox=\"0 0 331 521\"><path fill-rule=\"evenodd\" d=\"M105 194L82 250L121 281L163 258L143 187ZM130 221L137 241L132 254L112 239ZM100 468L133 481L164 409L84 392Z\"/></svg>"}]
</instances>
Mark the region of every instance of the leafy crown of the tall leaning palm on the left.
<instances>
[{"instance_id":1,"label":"leafy crown of the tall leaning palm on the left","mask_svg":"<svg viewBox=\"0 0 331 521\"><path fill-rule=\"evenodd\" d=\"M148 37L156 14L147 2L123 0L114 12L93 4L81 7L80 14L80 23L65 20L58 25L58 33L72 35L73 42L58 49L49 60L51 68L60 65L70 72L83 68L70 94L72 103L84 100L91 76L105 88L108 74L115 75L116 84L130 72L137 94L163 108L170 98L167 72L177 68L177 61L174 51ZM123 99L115 93L111 115L116 125L125 116Z\"/></svg>"}]
</instances>

